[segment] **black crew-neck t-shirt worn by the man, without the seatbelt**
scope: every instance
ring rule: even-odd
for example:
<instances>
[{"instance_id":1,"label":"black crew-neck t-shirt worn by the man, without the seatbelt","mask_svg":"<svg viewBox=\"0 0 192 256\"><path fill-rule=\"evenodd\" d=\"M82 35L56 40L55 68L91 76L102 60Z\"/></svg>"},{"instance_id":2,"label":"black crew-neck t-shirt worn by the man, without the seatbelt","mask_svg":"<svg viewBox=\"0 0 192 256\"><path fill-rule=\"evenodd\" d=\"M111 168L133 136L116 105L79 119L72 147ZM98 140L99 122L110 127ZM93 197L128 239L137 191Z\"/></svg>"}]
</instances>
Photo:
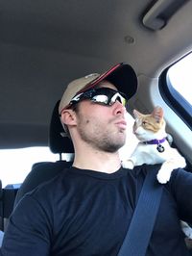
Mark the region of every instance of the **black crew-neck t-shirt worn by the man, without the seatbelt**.
<instances>
[{"instance_id":1,"label":"black crew-neck t-shirt worn by the man, without the seatbelt","mask_svg":"<svg viewBox=\"0 0 192 256\"><path fill-rule=\"evenodd\" d=\"M1 255L116 256L146 172L147 166L120 168L112 174L64 169L19 202ZM191 198L192 174L174 170L170 182L163 186L147 256L189 255L180 218L192 222ZM145 231L138 235L145 236Z\"/></svg>"}]
</instances>

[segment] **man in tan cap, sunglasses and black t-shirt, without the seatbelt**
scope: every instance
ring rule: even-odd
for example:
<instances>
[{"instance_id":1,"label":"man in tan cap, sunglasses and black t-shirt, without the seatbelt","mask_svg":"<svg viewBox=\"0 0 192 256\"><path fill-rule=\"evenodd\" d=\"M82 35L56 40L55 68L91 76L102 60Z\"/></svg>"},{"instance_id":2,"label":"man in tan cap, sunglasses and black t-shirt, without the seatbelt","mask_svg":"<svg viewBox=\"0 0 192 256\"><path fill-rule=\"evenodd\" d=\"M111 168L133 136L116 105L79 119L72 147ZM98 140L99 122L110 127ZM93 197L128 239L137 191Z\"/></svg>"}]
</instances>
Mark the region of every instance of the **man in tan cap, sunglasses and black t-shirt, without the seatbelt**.
<instances>
[{"instance_id":1,"label":"man in tan cap, sunglasses and black t-shirt, without the seatbelt","mask_svg":"<svg viewBox=\"0 0 192 256\"><path fill-rule=\"evenodd\" d=\"M136 88L136 75L128 64L68 85L59 114L74 144L73 166L20 201L2 255L118 254L148 171L148 166L122 168L118 154L126 140L126 102ZM191 185L191 174L173 171L163 189L147 255L189 255L180 218L191 220ZM140 235L145 236L145 230Z\"/></svg>"}]
</instances>

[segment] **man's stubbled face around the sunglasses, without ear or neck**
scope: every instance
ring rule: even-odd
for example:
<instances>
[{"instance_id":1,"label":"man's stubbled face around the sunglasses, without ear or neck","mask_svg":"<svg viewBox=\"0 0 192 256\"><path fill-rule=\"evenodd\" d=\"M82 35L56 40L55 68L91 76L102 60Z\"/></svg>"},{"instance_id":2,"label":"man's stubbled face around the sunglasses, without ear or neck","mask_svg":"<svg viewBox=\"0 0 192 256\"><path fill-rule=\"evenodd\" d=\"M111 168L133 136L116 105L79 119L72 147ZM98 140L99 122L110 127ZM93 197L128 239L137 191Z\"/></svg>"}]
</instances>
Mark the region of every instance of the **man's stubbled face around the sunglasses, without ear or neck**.
<instances>
[{"instance_id":1,"label":"man's stubbled face around the sunglasses, without ear or neck","mask_svg":"<svg viewBox=\"0 0 192 256\"><path fill-rule=\"evenodd\" d=\"M116 88L108 81L99 87ZM77 130L83 141L95 149L116 152L126 141L126 109L116 101L111 106L99 105L90 100L79 103Z\"/></svg>"}]
</instances>

